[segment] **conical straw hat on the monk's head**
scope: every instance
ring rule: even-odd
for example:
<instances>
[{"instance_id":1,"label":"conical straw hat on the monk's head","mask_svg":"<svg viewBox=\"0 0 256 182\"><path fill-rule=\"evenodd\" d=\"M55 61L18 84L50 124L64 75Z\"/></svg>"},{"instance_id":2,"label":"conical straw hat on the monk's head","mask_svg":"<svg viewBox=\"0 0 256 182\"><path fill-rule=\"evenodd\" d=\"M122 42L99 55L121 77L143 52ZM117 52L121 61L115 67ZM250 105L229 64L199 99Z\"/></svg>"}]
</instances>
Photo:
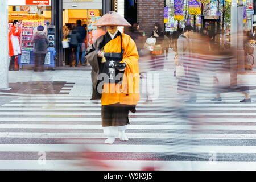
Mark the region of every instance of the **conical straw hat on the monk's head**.
<instances>
[{"instance_id":1,"label":"conical straw hat on the monk's head","mask_svg":"<svg viewBox=\"0 0 256 182\"><path fill-rule=\"evenodd\" d=\"M127 26L130 27L131 24L126 21L121 15L115 13L114 11L110 11L109 13L103 15L93 26Z\"/></svg>"}]
</instances>

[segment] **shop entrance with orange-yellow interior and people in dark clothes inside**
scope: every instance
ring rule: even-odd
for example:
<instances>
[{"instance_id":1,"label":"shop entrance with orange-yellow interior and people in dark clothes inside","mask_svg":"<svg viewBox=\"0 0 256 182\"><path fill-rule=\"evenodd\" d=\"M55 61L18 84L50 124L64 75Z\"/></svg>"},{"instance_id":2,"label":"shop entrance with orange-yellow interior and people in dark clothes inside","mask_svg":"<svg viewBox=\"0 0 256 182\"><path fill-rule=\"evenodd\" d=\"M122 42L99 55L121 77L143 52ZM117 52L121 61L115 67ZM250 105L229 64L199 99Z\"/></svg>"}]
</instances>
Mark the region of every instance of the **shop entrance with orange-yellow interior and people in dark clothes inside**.
<instances>
[{"instance_id":1,"label":"shop entrance with orange-yellow interior and people in dark clothes inside","mask_svg":"<svg viewBox=\"0 0 256 182\"><path fill-rule=\"evenodd\" d=\"M66 68L84 69L84 67L89 66L85 59L85 51L93 42L93 33L94 30L97 30L97 27L94 27L93 24L101 15L101 10L63 10L63 65ZM81 20L81 27L84 28L86 35L82 44L76 47L71 46L72 31L74 33L74 30L80 30L80 32L82 30L81 27L77 28L77 20ZM79 58L77 59L77 57Z\"/></svg>"}]
</instances>

